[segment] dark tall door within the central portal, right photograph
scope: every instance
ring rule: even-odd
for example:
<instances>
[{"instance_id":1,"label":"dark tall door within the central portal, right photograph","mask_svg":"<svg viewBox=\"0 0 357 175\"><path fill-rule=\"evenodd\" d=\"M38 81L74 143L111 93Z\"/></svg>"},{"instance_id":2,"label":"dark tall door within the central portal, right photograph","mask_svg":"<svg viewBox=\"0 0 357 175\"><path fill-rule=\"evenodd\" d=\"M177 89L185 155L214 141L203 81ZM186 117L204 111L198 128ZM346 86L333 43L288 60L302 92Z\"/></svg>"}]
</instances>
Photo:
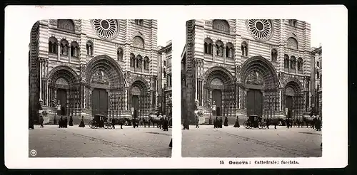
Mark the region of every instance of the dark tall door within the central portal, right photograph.
<instances>
[{"instance_id":1,"label":"dark tall door within the central portal, right photograph","mask_svg":"<svg viewBox=\"0 0 357 175\"><path fill-rule=\"evenodd\" d=\"M247 112L249 115L263 115L263 93L261 90L250 89L247 92Z\"/></svg>"}]
</instances>

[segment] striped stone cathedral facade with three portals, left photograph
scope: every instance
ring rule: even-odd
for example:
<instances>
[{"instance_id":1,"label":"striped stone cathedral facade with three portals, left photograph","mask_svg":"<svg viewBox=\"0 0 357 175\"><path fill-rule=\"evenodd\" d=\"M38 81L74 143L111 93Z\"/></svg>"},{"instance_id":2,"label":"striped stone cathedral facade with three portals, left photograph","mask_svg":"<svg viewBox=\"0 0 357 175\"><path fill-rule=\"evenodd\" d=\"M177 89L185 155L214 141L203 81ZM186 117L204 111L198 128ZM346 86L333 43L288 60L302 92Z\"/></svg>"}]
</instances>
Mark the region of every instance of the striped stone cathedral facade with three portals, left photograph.
<instances>
[{"instance_id":1,"label":"striped stone cathedral facade with three portals, left photograph","mask_svg":"<svg viewBox=\"0 0 357 175\"><path fill-rule=\"evenodd\" d=\"M31 28L29 119L144 117L157 110L156 20L49 19Z\"/></svg>"}]
</instances>

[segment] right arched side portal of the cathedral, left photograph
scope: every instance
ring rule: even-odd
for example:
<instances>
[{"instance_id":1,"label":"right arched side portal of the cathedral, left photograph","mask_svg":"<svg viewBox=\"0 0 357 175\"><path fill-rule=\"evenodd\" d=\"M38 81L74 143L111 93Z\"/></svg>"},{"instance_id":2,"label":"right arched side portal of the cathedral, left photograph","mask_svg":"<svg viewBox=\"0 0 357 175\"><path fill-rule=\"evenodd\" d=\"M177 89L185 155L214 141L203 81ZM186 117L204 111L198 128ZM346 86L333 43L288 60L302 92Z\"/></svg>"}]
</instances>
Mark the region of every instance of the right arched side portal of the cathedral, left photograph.
<instances>
[{"instance_id":1,"label":"right arched side portal of the cathedral, left photograph","mask_svg":"<svg viewBox=\"0 0 357 175\"><path fill-rule=\"evenodd\" d=\"M151 109L150 86L144 78L136 77L131 80L129 92L129 106L133 117L144 117L149 115Z\"/></svg>"}]
</instances>

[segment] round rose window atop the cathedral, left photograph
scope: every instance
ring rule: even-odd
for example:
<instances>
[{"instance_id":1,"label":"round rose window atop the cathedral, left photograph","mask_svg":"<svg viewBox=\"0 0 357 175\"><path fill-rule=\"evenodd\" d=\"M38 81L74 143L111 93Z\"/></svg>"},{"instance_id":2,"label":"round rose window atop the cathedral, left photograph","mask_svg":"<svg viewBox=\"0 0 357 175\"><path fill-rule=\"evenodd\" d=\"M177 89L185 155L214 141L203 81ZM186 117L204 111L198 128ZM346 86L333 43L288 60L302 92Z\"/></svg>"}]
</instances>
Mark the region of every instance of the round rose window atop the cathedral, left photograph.
<instances>
[{"instance_id":1,"label":"round rose window atop the cathedral, left photograph","mask_svg":"<svg viewBox=\"0 0 357 175\"><path fill-rule=\"evenodd\" d=\"M106 40L111 40L118 34L118 21L116 19L93 19L92 27L96 34Z\"/></svg>"}]
</instances>

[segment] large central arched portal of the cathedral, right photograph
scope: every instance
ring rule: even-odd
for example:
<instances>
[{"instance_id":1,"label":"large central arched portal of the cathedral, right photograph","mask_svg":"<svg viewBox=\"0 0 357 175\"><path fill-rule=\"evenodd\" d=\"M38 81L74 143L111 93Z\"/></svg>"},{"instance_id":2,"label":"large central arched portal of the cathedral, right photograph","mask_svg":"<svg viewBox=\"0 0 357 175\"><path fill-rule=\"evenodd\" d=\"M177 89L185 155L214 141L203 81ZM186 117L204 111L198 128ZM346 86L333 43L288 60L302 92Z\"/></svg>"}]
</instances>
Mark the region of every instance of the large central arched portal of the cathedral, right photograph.
<instances>
[{"instance_id":1,"label":"large central arched portal of the cathedral, right photograph","mask_svg":"<svg viewBox=\"0 0 357 175\"><path fill-rule=\"evenodd\" d=\"M280 82L269 60L260 55L248 58L241 68L241 82L245 89L241 107L246 108L247 115L265 118L278 115Z\"/></svg>"}]
</instances>

